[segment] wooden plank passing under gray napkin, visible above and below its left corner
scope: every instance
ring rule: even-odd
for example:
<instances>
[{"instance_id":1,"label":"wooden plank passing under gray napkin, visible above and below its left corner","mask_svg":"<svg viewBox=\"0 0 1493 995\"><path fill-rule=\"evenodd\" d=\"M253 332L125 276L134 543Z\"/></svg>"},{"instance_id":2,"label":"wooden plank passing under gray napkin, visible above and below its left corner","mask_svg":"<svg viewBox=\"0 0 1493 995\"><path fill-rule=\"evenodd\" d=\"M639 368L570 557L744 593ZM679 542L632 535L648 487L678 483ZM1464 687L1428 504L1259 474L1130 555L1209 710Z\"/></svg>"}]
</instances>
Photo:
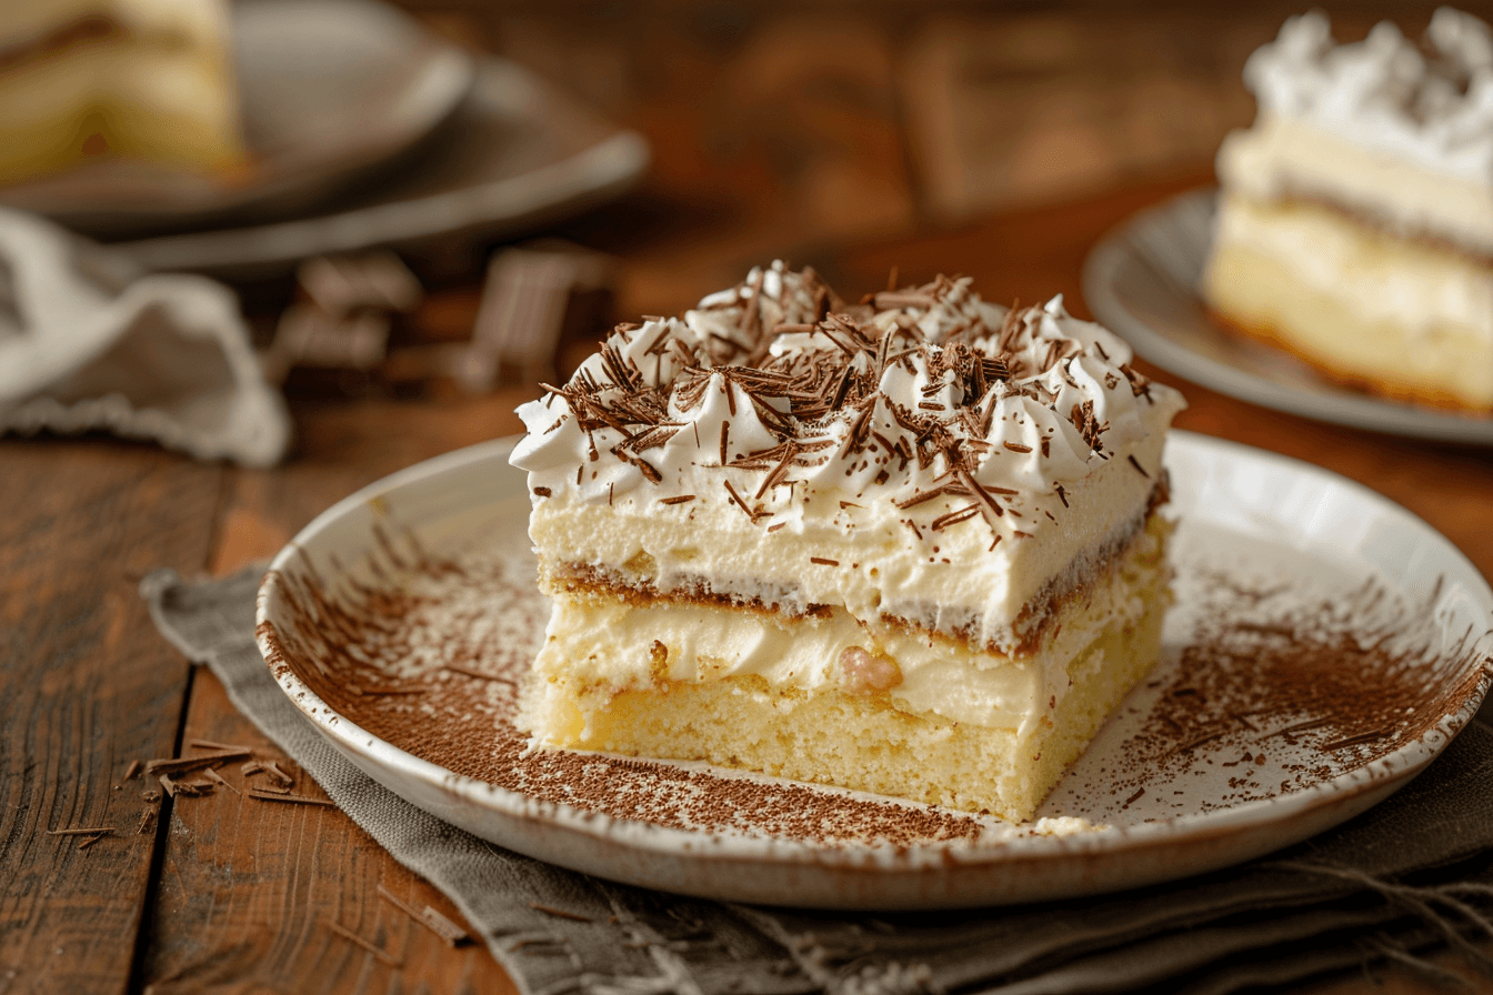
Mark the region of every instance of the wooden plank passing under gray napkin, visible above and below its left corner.
<instances>
[{"instance_id":1,"label":"wooden plank passing under gray napkin, visible above and below its left corner","mask_svg":"<svg viewBox=\"0 0 1493 995\"><path fill-rule=\"evenodd\" d=\"M297 455L276 470L234 471L215 573L273 555L327 506L394 470L521 430L514 407L534 388L455 403L355 401L302 404ZM240 716L211 673L193 686L184 741L248 744L257 756L290 761ZM245 785L237 765L221 771ZM322 797L297 771L296 792ZM481 943L452 949L381 898L379 886L458 919L430 885L399 867L336 809L287 806L236 795L176 801L154 931L142 979L158 995L209 986L293 991L512 992ZM387 953L339 935L333 923ZM396 961L391 964L390 961ZM400 988L402 986L402 988Z\"/></svg>"}]
</instances>

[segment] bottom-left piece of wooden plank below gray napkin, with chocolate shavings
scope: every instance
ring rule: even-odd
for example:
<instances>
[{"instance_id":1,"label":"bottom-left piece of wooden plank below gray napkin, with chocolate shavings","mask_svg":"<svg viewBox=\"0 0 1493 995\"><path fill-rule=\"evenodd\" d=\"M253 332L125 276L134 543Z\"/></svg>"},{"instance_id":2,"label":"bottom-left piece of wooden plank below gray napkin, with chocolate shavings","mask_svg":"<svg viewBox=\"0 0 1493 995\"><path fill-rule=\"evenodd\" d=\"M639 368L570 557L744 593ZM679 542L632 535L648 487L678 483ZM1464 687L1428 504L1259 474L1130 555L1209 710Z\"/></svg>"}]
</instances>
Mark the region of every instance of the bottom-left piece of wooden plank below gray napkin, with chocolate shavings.
<instances>
[{"instance_id":1,"label":"bottom-left piece of wooden plank below gray napkin, with chocolate shavings","mask_svg":"<svg viewBox=\"0 0 1493 995\"><path fill-rule=\"evenodd\" d=\"M184 741L191 738L251 746L255 759L275 759L296 777L294 794L325 798L233 709L206 670L193 683ZM327 994L517 992L482 943L448 946L379 894L382 888L461 923L443 895L340 810L260 801L249 791L269 782L245 777L239 764L219 774L242 794L219 786L178 797L172 809L140 970L154 995L293 992L312 979Z\"/></svg>"}]
</instances>

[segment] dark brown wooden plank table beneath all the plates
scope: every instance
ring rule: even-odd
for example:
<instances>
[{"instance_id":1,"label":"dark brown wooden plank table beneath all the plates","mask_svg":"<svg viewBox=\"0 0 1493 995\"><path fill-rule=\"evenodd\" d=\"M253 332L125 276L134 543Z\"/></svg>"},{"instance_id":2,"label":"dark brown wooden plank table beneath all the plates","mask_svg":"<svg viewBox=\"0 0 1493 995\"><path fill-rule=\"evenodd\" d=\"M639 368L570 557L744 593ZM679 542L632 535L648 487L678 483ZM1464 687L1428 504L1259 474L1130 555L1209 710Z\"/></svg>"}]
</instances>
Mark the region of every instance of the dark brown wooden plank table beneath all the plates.
<instances>
[{"instance_id":1,"label":"dark brown wooden plank table beneath all the plates","mask_svg":"<svg viewBox=\"0 0 1493 995\"><path fill-rule=\"evenodd\" d=\"M1085 251L1132 212L1209 181L1218 137L1250 118L1239 64L1294 7L1160 10L420 12L654 142L642 189L555 230L617 257L626 318L678 312L775 255L815 266L848 294L879 288L896 266L903 280L970 274L994 300L1063 292L1085 313ZM449 339L470 327L476 280L434 288L415 333ZM273 292L251 297L254 316L273 318L266 300ZM1487 451L1178 386L1191 401L1179 427L1359 480L1493 576ZM296 451L267 471L106 437L0 440L0 995L512 991L482 946L446 947L379 897L384 888L455 914L336 809L230 791L146 801L124 774L193 740L249 744L291 768L209 673L155 634L136 594L145 573L221 574L269 556L355 488L518 431L512 409L533 392L300 394ZM145 812L155 822L136 834ZM76 825L119 832L87 849L48 834ZM397 949L399 965L333 923ZM1391 974L1377 991L1418 989Z\"/></svg>"}]
</instances>

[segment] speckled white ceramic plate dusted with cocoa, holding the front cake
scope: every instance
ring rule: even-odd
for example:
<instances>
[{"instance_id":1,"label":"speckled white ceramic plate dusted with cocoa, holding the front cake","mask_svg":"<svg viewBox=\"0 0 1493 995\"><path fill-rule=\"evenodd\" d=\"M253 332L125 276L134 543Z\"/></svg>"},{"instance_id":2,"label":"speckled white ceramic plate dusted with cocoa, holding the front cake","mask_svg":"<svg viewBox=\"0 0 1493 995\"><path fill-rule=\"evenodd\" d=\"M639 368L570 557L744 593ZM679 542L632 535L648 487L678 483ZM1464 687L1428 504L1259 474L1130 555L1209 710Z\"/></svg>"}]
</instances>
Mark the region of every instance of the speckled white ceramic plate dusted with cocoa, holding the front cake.
<instances>
[{"instance_id":1,"label":"speckled white ceramic plate dusted with cocoa, holding the front cake","mask_svg":"<svg viewBox=\"0 0 1493 995\"><path fill-rule=\"evenodd\" d=\"M947 908L1239 862L1363 812L1487 688L1493 591L1383 497L1175 433L1176 606L1153 674L1026 825L835 788L529 752L514 692L546 603L509 440L336 504L275 559L260 646L354 764L479 837L691 895Z\"/></svg>"}]
</instances>

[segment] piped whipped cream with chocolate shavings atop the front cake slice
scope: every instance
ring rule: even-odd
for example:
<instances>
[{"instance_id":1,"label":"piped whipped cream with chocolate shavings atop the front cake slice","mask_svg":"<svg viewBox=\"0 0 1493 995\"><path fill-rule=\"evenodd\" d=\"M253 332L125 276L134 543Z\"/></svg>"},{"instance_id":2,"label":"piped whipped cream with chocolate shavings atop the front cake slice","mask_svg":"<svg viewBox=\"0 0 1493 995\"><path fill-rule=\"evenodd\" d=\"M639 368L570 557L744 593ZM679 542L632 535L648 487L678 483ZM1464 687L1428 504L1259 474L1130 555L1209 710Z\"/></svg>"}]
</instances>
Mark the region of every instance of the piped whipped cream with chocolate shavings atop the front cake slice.
<instances>
[{"instance_id":1,"label":"piped whipped cream with chocolate shavings atop the front cake slice","mask_svg":"<svg viewBox=\"0 0 1493 995\"><path fill-rule=\"evenodd\" d=\"M994 525L1023 495L1066 506L1065 485L1165 430L1181 397L1130 360L1062 297L1005 309L939 277L845 306L779 261L682 319L620 325L518 409L529 434L512 462L536 501L724 488L769 528L860 498Z\"/></svg>"}]
</instances>

